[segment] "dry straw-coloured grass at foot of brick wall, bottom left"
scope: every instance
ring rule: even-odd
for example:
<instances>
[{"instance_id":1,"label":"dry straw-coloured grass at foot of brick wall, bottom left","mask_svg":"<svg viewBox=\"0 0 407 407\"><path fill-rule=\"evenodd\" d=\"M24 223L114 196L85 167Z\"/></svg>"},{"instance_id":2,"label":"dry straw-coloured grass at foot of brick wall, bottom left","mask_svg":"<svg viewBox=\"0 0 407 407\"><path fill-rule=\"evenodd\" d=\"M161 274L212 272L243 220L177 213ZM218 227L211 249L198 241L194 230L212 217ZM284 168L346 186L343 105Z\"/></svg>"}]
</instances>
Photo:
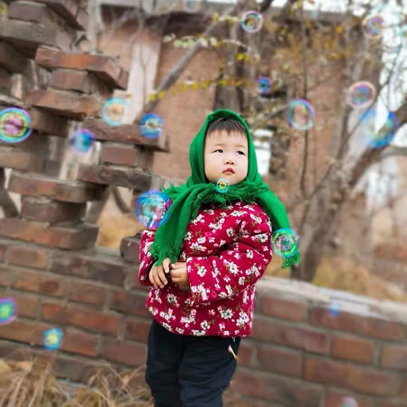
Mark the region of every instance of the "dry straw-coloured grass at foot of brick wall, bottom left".
<instances>
[{"instance_id":1,"label":"dry straw-coloured grass at foot of brick wall, bottom left","mask_svg":"<svg viewBox=\"0 0 407 407\"><path fill-rule=\"evenodd\" d=\"M152 407L150 391L139 379L138 370L119 373L106 364L88 385L69 391L49 362L0 359L0 407Z\"/></svg>"}]
</instances>

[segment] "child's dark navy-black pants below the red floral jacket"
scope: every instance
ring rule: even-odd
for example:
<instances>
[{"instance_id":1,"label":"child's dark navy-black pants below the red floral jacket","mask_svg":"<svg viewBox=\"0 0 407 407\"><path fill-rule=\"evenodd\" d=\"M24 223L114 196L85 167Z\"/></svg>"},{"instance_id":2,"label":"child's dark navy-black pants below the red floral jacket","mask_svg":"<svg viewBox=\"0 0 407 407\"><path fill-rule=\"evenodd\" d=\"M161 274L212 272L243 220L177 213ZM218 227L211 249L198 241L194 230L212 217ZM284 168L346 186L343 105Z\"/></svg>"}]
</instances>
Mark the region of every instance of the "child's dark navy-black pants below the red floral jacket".
<instances>
[{"instance_id":1,"label":"child's dark navy-black pants below the red floral jacket","mask_svg":"<svg viewBox=\"0 0 407 407\"><path fill-rule=\"evenodd\" d=\"M150 328L146 381L155 407L221 407L236 369L240 337L173 334L156 321Z\"/></svg>"}]
</instances>

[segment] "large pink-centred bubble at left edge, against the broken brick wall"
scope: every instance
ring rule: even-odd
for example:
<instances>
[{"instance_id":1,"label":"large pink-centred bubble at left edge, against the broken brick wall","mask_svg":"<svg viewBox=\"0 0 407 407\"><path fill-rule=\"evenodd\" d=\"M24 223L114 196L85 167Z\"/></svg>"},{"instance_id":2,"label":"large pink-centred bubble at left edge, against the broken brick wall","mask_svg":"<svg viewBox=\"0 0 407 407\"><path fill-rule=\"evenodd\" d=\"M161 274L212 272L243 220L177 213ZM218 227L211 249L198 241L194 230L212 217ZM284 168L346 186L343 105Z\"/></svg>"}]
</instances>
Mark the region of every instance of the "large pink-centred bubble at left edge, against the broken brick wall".
<instances>
[{"instance_id":1,"label":"large pink-centred bubble at left edge, against the broken brick wall","mask_svg":"<svg viewBox=\"0 0 407 407\"><path fill-rule=\"evenodd\" d=\"M0 112L0 139L17 143L30 136L31 119L23 109L10 107Z\"/></svg>"}]
</instances>

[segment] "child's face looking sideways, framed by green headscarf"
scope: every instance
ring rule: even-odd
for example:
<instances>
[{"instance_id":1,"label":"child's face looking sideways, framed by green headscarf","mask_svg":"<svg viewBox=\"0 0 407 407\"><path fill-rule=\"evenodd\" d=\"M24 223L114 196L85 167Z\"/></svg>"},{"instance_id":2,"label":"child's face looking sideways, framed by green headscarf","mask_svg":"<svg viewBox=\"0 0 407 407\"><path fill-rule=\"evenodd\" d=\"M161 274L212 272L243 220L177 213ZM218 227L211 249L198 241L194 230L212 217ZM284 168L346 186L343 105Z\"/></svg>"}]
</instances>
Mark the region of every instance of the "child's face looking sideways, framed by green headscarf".
<instances>
[{"instance_id":1,"label":"child's face looking sideways, framed by green headscarf","mask_svg":"<svg viewBox=\"0 0 407 407\"><path fill-rule=\"evenodd\" d=\"M247 177L248 144L247 137L240 133L216 130L205 138L203 155L205 175L215 184L219 178L238 184ZM231 168L231 172L225 172Z\"/></svg>"}]
</instances>

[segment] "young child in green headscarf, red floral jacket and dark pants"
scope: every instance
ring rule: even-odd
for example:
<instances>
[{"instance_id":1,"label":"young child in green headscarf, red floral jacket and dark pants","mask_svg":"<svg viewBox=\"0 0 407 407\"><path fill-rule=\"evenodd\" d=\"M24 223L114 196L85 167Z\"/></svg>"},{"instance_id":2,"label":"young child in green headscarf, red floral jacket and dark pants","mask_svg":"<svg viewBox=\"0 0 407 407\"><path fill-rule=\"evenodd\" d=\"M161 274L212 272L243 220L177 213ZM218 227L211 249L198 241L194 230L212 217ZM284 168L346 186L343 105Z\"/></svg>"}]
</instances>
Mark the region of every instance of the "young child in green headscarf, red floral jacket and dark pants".
<instances>
[{"instance_id":1,"label":"young child in green headscarf, red floral jacket and dark pants","mask_svg":"<svg viewBox=\"0 0 407 407\"><path fill-rule=\"evenodd\" d=\"M156 407L219 407L252 329L255 282L272 257L272 230L289 228L261 182L239 114L211 113L190 146L191 176L163 192L168 217L141 237L139 281L154 316L146 381ZM230 185L217 187L219 179ZM283 267L299 256L285 259Z\"/></svg>"}]
</instances>

